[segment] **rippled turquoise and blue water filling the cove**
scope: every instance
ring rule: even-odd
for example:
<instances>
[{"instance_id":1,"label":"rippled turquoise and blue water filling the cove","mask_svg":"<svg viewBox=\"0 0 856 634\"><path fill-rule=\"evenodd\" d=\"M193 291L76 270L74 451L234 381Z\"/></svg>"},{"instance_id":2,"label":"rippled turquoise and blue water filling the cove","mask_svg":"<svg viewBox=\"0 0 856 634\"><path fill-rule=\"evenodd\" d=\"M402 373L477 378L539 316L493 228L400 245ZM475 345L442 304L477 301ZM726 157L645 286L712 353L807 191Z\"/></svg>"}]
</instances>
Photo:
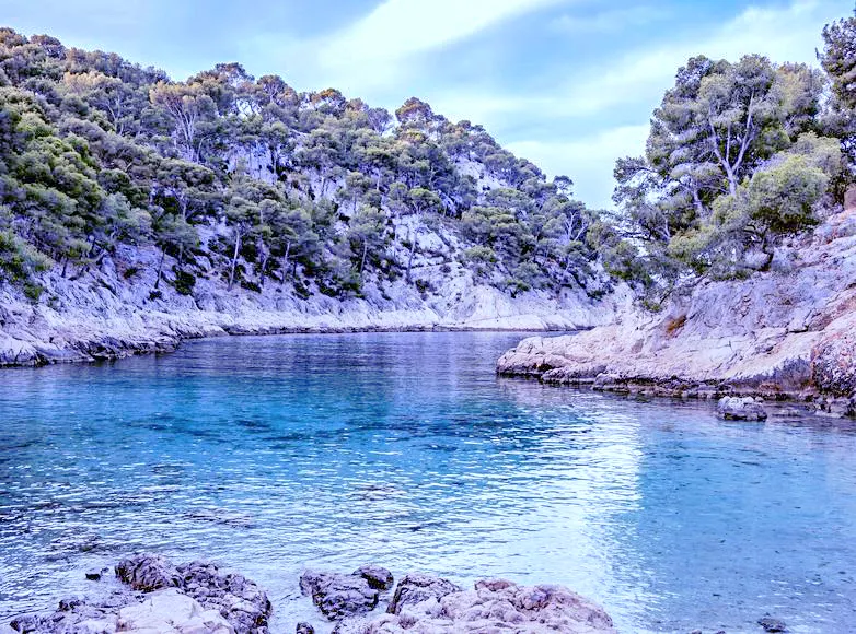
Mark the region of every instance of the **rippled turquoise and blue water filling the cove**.
<instances>
[{"instance_id":1,"label":"rippled turquoise and blue water filling the cove","mask_svg":"<svg viewBox=\"0 0 856 634\"><path fill-rule=\"evenodd\" d=\"M0 373L0 617L134 550L562 583L622 632L852 632L856 434L497 379L520 336L199 341Z\"/></svg>"}]
</instances>

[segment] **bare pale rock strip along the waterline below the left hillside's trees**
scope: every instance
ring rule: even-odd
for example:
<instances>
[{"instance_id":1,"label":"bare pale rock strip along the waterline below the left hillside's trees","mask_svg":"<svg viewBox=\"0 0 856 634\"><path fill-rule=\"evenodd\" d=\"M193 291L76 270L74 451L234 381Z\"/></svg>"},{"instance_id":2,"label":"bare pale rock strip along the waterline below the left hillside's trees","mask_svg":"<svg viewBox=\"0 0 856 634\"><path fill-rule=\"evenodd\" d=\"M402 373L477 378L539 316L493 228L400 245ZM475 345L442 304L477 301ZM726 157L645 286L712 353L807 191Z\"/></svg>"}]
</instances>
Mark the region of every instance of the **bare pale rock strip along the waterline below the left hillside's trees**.
<instances>
[{"instance_id":1,"label":"bare pale rock strip along the waterline below the left hillside's trees","mask_svg":"<svg viewBox=\"0 0 856 634\"><path fill-rule=\"evenodd\" d=\"M441 242L439 244L442 244ZM451 255L449 256L451 257ZM205 261L200 258L200 261ZM224 334L356 330L569 330L614 319L618 298L579 290L516 297L476 283L470 271L421 262L419 285L367 279L360 297L334 298L289 282L227 287L200 274L192 295L170 283L171 258L155 290L160 251L120 246L97 269L42 275L36 303L0 281L0 366L114 359L173 350L182 340ZM311 294L310 294L311 293Z\"/></svg>"}]
</instances>

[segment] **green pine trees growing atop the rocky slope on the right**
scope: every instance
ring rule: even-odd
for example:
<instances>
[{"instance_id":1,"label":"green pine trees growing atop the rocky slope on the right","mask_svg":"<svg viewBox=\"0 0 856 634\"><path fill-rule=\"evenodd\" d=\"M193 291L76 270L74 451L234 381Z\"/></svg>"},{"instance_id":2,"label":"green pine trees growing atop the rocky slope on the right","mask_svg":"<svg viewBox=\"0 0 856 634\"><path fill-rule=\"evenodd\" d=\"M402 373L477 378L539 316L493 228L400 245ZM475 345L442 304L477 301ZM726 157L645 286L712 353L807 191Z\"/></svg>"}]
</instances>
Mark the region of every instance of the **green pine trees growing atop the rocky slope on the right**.
<instances>
[{"instance_id":1,"label":"green pine trees growing atop the rocky slope on the right","mask_svg":"<svg viewBox=\"0 0 856 634\"><path fill-rule=\"evenodd\" d=\"M853 183L856 17L829 25L823 70L757 55L704 56L678 71L645 154L615 165L610 270L657 306L682 280L770 269Z\"/></svg>"}]
</instances>

